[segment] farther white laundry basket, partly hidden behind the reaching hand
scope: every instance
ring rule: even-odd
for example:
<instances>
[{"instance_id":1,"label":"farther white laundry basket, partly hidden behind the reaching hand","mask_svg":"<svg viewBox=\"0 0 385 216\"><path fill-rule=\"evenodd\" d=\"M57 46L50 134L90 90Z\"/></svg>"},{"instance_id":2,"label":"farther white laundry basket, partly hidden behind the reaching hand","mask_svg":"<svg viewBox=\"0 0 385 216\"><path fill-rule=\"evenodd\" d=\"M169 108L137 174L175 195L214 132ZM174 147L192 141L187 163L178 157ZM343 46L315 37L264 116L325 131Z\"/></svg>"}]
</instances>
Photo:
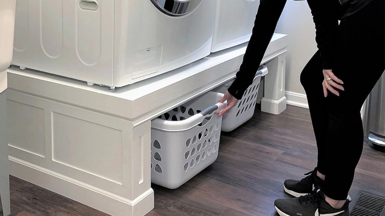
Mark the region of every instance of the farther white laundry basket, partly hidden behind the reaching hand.
<instances>
[{"instance_id":1,"label":"farther white laundry basket, partly hidden behind the reaching hand","mask_svg":"<svg viewBox=\"0 0 385 216\"><path fill-rule=\"evenodd\" d=\"M261 77L266 74L268 74L268 68L265 65L262 65L255 74L253 83L243 94L242 99L238 101L238 104L233 107L230 112L223 115L222 131L230 132L253 117ZM231 80L213 91L224 94L233 81L234 80Z\"/></svg>"}]
</instances>

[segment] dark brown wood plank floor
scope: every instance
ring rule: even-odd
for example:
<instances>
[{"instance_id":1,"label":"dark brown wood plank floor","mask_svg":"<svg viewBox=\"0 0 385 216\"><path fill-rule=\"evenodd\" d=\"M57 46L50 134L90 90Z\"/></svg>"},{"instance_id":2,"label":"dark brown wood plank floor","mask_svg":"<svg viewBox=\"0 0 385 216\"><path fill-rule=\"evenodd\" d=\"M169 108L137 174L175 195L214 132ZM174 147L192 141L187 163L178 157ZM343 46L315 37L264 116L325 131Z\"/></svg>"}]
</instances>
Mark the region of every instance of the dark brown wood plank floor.
<instances>
[{"instance_id":1,"label":"dark brown wood plank floor","mask_svg":"<svg viewBox=\"0 0 385 216\"><path fill-rule=\"evenodd\" d=\"M277 216L273 202L289 197L285 179L301 179L316 164L308 109L288 106L279 115L256 108L248 122L222 132L217 160L177 189L153 185L147 216ZM10 177L11 216L107 216L24 180ZM364 144L350 196L385 195L385 153Z\"/></svg>"}]
</instances>

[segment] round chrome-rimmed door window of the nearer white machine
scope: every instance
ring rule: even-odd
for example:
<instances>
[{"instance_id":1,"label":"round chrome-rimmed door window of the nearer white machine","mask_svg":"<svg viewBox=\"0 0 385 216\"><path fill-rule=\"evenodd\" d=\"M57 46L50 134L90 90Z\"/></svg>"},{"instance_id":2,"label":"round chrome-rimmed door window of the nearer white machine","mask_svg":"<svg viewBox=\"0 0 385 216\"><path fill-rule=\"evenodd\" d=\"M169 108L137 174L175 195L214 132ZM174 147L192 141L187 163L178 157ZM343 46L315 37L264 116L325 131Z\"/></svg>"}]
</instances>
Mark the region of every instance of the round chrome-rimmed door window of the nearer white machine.
<instances>
[{"instance_id":1,"label":"round chrome-rimmed door window of the nearer white machine","mask_svg":"<svg viewBox=\"0 0 385 216\"><path fill-rule=\"evenodd\" d=\"M202 0L151 0L163 13L181 16L190 13Z\"/></svg>"}]
</instances>

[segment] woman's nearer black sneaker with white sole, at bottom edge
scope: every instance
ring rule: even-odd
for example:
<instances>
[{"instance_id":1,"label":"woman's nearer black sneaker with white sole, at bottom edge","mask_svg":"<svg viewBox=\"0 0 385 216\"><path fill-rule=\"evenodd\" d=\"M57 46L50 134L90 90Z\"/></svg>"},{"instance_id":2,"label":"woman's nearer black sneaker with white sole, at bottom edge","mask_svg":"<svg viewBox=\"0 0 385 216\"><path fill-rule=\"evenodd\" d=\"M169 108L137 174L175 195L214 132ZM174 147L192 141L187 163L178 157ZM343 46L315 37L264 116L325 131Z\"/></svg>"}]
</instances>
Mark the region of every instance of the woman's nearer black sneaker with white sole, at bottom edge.
<instances>
[{"instance_id":1,"label":"woman's nearer black sneaker with white sole, at bottom edge","mask_svg":"<svg viewBox=\"0 0 385 216\"><path fill-rule=\"evenodd\" d=\"M341 209L335 209L325 201L318 189L312 193L289 199L277 199L274 207L280 216L349 216L349 200Z\"/></svg>"}]
</instances>

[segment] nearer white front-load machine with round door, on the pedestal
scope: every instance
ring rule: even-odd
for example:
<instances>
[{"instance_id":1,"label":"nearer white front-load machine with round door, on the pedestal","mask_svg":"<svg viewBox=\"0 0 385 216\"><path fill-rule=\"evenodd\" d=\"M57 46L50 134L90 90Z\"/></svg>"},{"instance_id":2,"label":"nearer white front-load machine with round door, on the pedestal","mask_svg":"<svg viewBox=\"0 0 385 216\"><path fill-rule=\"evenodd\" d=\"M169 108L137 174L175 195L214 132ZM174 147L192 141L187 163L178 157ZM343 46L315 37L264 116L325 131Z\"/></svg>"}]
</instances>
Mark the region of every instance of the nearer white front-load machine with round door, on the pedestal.
<instances>
[{"instance_id":1,"label":"nearer white front-load machine with round door, on the pedestal","mask_svg":"<svg viewBox=\"0 0 385 216\"><path fill-rule=\"evenodd\" d=\"M112 89L210 54L214 0L17 0L13 65Z\"/></svg>"}]
</instances>

